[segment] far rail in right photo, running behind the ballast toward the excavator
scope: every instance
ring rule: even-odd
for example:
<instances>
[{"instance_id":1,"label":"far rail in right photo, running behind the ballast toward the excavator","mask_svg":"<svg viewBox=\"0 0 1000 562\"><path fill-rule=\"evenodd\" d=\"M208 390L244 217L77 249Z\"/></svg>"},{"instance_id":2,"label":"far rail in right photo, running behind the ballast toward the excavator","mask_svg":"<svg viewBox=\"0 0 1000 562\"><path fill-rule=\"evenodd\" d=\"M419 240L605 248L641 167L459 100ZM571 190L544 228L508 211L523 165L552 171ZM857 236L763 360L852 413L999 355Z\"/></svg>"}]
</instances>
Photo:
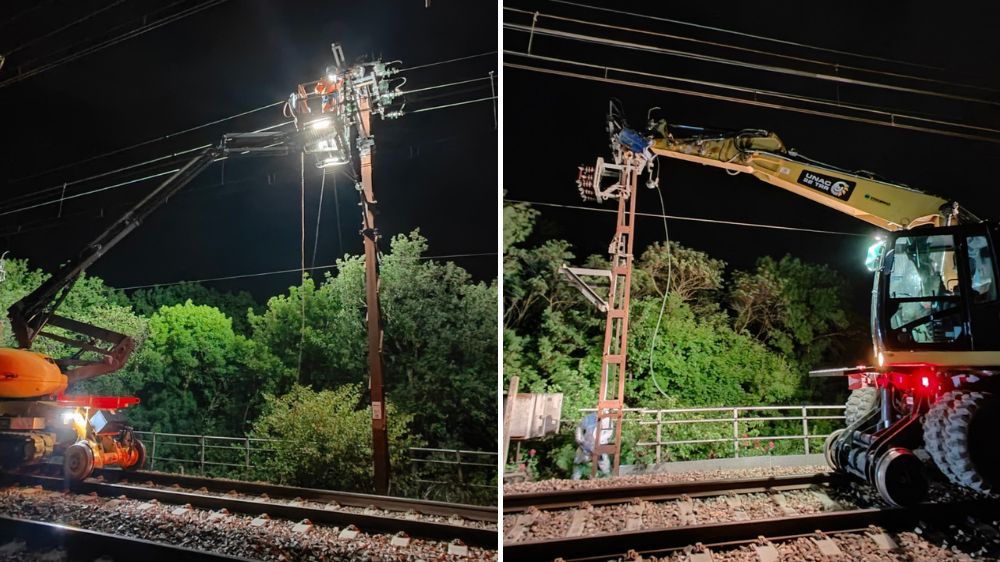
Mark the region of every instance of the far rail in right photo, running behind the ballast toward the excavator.
<instances>
[{"instance_id":1,"label":"far rail in right photo, running behind the ballast toward the excavator","mask_svg":"<svg viewBox=\"0 0 1000 562\"><path fill-rule=\"evenodd\" d=\"M672 482L668 484L643 484L638 486L609 486L583 490L559 490L529 494L507 494L503 497L503 512L519 513L535 507L540 510L579 507L583 502L591 505L628 503L634 499L645 501L676 500L722 496L730 492L750 494L769 491L797 490L818 484L847 481L843 474L820 472L802 476L772 476L747 480L701 480Z\"/></svg>"}]
</instances>

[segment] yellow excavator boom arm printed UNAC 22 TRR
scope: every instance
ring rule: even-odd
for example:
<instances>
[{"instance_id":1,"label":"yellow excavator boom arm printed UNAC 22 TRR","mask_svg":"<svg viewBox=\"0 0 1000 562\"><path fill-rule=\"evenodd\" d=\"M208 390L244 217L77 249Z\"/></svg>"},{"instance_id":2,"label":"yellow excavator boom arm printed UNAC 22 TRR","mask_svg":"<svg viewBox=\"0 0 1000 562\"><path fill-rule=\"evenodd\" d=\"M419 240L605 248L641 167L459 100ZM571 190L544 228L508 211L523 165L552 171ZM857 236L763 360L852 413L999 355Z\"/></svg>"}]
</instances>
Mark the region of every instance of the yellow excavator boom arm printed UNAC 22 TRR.
<instances>
[{"instance_id":1,"label":"yellow excavator boom arm printed UNAC 22 TRR","mask_svg":"<svg viewBox=\"0 0 1000 562\"><path fill-rule=\"evenodd\" d=\"M762 181L885 230L978 221L952 201L880 181L866 172L848 172L809 160L786 149L777 135L767 131L715 132L673 127L660 121L652 134L650 141L624 129L619 139L630 149L647 155L652 153L732 173L753 174ZM639 139L646 142L644 147Z\"/></svg>"}]
</instances>

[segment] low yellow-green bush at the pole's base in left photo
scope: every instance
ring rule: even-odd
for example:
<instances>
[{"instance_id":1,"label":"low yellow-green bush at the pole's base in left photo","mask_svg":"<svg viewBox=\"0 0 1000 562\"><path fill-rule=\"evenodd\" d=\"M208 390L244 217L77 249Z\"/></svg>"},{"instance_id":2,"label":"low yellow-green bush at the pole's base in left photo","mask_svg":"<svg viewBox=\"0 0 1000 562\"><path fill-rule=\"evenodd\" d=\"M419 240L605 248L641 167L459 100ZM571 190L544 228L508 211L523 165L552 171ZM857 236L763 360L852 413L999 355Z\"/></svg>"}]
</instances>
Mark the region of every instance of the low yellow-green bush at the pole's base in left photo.
<instances>
[{"instance_id":1,"label":"low yellow-green bush at the pole's base in left photo","mask_svg":"<svg viewBox=\"0 0 1000 562\"><path fill-rule=\"evenodd\" d=\"M274 454L260 472L272 482L334 490L371 492L371 414L360 385L315 391L295 385L281 397L268 396L255 437L274 439ZM394 494L411 491L407 449L423 442L413 416L386 404L389 462Z\"/></svg>"}]
</instances>

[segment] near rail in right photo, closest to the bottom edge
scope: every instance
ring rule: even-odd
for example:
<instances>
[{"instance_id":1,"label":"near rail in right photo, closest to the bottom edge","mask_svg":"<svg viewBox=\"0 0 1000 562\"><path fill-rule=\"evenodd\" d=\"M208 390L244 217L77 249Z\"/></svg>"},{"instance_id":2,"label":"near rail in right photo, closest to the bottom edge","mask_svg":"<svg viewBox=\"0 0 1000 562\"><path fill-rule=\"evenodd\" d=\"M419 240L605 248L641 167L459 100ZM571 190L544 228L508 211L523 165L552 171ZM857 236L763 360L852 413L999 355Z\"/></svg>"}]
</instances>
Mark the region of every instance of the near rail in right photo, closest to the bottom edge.
<instances>
[{"instance_id":1,"label":"near rail in right photo, closest to the bottom edge","mask_svg":"<svg viewBox=\"0 0 1000 562\"><path fill-rule=\"evenodd\" d=\"M643 556L675 551L696 543L740 543L758 537L802 536L842 532L877 525L887 530L908 528L918 522L947 523L967 516L995 516L1000 502L994 499L954 503L925 503L909 508L869 508L834 511L773 519L733 521L707 525L665 527L641 531L594 534L549 540L505 542L504 557L510 560L607 560L629 551Z\"/></svg>"}]
</instances>

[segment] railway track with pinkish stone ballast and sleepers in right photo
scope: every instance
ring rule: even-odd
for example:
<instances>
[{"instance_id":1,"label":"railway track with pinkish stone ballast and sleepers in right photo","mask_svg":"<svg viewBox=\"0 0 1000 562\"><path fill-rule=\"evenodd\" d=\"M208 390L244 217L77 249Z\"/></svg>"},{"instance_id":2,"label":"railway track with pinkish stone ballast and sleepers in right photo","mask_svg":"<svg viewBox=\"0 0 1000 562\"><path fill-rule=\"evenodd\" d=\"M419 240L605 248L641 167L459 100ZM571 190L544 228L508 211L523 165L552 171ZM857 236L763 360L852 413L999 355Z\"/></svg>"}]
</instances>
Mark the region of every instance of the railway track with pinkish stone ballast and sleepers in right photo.
<instances>
[{"instance_id":1,"label":"railway track with pinkish stone ballast and sleepers in right photo","mask_svg":"<svg viewBox=\"0 0 1000 562\"><path fill-rule=\"evenodd\" d=\"M826 544L825 535L816 534L822 530L847 537L848 542L860 541L862 550L873 549L877 555L883 545L892 544L882 529L912 529L918 522L952 523L1000 513L995 498L943 492L935 503L885 508L859 494L850 479L831 473L508 494L503 549L513 560L567 562L676 559L671 556L683 549L690 558L680 559L695 561L711 559L697 558L703 546L771 548L762 536L775 543ZM748 559L779 558L751 554Z\"/></svg>"}]
</instances>

